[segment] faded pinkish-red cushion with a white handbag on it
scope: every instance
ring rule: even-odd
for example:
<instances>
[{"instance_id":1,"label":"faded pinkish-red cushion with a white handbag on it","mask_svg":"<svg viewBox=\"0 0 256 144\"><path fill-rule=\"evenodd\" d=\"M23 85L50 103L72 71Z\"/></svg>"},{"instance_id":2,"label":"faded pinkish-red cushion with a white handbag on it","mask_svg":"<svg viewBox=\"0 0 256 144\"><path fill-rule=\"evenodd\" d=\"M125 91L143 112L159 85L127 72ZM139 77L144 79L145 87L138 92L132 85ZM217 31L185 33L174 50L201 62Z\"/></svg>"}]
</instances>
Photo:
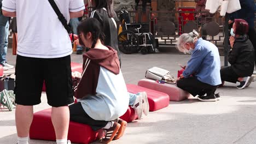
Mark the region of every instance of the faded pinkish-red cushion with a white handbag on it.
<instances>
[{"instance_id":1,"label":"faded pinkish-red cushion with a white handbag on it","mask_svg":"<svg viewBox=\"0 0 256 144\"><path fill-rule=\"evenodd\" d=\"M150 79L142 79L138 82L138 86L154 89L169 95L171 101L181 101L189 97L189 93L178 88L176 85L169 83L158 83Z\"/></svg>"}]
</instances>

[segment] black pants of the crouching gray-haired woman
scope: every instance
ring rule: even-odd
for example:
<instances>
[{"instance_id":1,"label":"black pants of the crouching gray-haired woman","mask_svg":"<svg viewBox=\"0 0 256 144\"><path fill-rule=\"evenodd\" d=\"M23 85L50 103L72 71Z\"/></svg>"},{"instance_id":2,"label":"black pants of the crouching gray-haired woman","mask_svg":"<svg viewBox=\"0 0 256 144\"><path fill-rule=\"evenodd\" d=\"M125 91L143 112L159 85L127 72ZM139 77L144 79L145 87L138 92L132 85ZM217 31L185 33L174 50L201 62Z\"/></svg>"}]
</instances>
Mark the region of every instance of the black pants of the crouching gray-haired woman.
<instances>
[{"instance_id":1,"label":"black pants of the crouching gray-haired woman","mask_svg":"<svg viewBox=\"0 0 256 144\"><path fill-rule=\"evenodd\" d=\"M217 86L212 86L197 80L196 77L188 77L177 81L177 86L184 91L189 92L194 97L196 95L212 95L215 93Z\"/></svg>"}]
</instances>

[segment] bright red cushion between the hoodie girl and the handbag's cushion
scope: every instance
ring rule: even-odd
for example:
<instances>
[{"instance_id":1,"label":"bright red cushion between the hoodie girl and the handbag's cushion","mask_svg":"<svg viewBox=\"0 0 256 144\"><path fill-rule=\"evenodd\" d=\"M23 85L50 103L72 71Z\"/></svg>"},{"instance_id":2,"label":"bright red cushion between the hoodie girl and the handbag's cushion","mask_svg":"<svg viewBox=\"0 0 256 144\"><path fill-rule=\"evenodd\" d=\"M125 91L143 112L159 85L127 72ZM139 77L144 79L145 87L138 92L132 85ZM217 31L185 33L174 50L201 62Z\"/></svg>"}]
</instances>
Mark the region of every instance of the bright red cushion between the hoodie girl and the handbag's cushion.
<instances>
[{"instance_id":1,"label":"bright red cushion between the hoodie girl and the handbag's cushion","mask_svg":"<svg viewBox=\"0 0 256 144\"><path fill-rule=\"evenodd\" d=\"M126 85L130 93L146 92L148 95L149 111L160 110L169 105L169 95L166 93L154 91L152 89L136 86Z\"/></svg>"}]
</instances>

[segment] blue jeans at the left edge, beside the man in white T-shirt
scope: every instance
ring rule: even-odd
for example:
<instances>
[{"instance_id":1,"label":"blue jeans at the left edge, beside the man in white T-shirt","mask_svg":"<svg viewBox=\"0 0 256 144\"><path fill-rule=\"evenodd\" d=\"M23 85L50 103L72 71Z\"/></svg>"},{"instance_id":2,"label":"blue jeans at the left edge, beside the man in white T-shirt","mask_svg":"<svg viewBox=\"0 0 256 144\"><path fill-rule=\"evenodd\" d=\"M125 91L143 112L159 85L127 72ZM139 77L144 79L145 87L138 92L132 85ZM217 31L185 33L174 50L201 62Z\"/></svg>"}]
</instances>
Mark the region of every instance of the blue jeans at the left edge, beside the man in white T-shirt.
<instances>
[{"instance_id":1,"label":"blue jeans at the left edge, beside the man in white T-shirt","mask_svg":"<svg viewBox=\"0 0 256 144\"><path fill-rule=\"evenodd\" d=\"M7 19L5 25L4 22ZM8 18L0 15L0 63L6 62L6 53L8 47L9 22Z\"/></svg>"}]
</instances>

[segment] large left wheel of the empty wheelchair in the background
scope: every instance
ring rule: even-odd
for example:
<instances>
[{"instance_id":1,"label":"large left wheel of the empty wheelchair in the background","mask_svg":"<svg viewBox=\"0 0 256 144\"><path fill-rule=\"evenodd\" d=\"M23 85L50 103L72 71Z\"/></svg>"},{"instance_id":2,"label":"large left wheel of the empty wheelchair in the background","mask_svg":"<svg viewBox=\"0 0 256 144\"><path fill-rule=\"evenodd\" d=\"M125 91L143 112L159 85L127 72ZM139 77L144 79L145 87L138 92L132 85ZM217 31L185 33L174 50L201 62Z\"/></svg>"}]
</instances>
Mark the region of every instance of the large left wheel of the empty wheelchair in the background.
<instances>
[{"instance_id":1,"label":"large left wheel of the empty wheelchair in the background","mask_svg":"<svg viewBox=\"0 0 256 144\"><path fill-rule=\"evenodd\" d=\"M118 35L119 50L125 54L138 52L138 37L132 31L123 31Z\"/></svg>"}]
</instances>

